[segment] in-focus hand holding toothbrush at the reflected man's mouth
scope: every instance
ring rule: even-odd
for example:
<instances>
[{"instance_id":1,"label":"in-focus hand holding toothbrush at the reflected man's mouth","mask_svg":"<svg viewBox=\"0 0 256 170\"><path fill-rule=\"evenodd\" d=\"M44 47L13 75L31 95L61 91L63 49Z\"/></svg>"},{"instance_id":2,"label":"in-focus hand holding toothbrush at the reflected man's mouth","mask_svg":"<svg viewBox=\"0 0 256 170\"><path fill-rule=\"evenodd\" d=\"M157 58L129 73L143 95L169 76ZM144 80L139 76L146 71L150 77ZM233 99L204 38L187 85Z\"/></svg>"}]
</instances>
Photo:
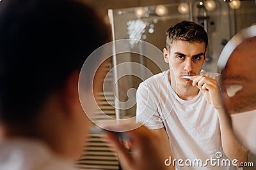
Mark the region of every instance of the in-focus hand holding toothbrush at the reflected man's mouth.
<instances>
[{"instance_id":1,"label":"in-focus hand holding toothbrush at the reflected man's mouth","mask_svg":"<svg viewBox=\"0 0 256 170\"><path fill-rule=\"evenodd\" d=\"M207 76L191 76L192 85L198 87L204 94L206 101L219 110L223 108L223 103L220 96L220 88L214 78Z\"/></svg>"}]
</instances>

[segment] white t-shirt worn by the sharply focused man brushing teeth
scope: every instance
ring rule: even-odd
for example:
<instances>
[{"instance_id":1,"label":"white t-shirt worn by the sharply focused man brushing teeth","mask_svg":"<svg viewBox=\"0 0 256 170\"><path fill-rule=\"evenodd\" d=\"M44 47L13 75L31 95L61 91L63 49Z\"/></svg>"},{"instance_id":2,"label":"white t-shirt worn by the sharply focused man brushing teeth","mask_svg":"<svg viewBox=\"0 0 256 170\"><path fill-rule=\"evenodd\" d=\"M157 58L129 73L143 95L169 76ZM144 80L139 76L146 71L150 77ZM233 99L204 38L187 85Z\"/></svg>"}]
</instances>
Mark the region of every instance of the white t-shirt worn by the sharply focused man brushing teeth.
<instances>
[{"instance_id":1,"label":"white t-shirt worn by the sharply focused man brushing teeth","mask_svg":"<svg viewBox=\"0 0 256 170\"><path fill-rule=\"evenodd\" d=\"M227 157L221 146L217 111L207 103L202 92L190 101L180 99L168 81L169 72L156 74L138 87L137 122L148 129L166 129L174 159L183 160L180 166L176 162L176 169L230 169L221 167L220 160ZM217 159L216 154L222 155L221 158ZM211 158L216 159L216 166L211 166ZM202 160L202 167L193 166L198 159Z\"/></svg>"}]
</instances>

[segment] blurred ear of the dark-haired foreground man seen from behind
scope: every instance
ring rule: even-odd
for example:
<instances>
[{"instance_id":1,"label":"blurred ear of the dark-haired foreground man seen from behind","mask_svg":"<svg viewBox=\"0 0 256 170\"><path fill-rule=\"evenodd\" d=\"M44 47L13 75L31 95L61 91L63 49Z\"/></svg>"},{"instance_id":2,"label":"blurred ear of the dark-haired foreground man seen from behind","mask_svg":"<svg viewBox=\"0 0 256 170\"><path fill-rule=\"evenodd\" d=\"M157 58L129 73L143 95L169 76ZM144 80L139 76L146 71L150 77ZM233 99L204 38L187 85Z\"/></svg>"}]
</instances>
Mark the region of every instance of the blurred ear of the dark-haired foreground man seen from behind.
<instances>
[{"instance_id":1,"label":"blurred ear of the dark-haired foreground man seen from behind","mask_svg":"<svg viewBox=\"0 0 256 170\"><path fill-rule=\"evenodd\" d=\"M63 103L63 109L65 109L65 113L68 113L69 116L76 113L79 107L81 107L78 95L78 80L79 71L74 71L68 76L63 88L60 90L60 97L62 97L60 100Z\"/></svg>"}]
</instances>

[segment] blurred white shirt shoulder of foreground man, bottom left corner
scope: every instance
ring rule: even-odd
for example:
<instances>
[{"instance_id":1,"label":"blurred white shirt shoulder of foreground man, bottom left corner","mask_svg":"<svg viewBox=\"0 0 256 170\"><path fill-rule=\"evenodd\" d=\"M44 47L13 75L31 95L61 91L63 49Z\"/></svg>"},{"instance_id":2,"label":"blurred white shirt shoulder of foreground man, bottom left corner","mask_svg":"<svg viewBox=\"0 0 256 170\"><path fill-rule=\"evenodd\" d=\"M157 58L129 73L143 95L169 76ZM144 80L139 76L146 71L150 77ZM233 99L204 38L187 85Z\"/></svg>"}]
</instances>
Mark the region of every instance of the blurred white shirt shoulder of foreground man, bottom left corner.
<instances>
[{"instance_id":1,"label":"blurred white shirt shoulder of foreground man, bottom left corner","mask_svg":"<svg viewBox=\"0 0 256 170\"><path fill-rule=\"evenodd\" d=\"M44 143L28 139L0 142L2 170L74 170L72 161L54 154Z\"/></svg>"}]
</instances>

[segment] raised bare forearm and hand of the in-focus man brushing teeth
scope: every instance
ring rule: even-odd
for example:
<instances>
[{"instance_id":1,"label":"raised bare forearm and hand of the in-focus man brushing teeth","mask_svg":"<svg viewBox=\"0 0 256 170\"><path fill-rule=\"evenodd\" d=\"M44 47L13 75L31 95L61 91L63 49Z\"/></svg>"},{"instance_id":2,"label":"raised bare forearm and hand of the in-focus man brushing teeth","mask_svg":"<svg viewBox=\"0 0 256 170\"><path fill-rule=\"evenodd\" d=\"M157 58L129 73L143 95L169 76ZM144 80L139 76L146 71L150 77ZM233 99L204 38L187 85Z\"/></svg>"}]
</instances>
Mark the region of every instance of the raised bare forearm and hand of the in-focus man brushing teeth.
<instances>
[{"instance_id":1,"label":"raised bare forearm and hand of the in-focus man brushing teeth","mask_svg":"<svg viewBox=\"0 0 256 170\"><path fill-rule=\"evenodd\" d=\"M237 165L240 162L246 162L248 152L243 149L232 131L230 116L226 113L223 106L217 81L207 76L192 76L191 80L193 81L193 85L198 87L204 94L206 101L212 104L218 111L222 148L228 159L237 159Z\"/></svg>"}]
</instances>

